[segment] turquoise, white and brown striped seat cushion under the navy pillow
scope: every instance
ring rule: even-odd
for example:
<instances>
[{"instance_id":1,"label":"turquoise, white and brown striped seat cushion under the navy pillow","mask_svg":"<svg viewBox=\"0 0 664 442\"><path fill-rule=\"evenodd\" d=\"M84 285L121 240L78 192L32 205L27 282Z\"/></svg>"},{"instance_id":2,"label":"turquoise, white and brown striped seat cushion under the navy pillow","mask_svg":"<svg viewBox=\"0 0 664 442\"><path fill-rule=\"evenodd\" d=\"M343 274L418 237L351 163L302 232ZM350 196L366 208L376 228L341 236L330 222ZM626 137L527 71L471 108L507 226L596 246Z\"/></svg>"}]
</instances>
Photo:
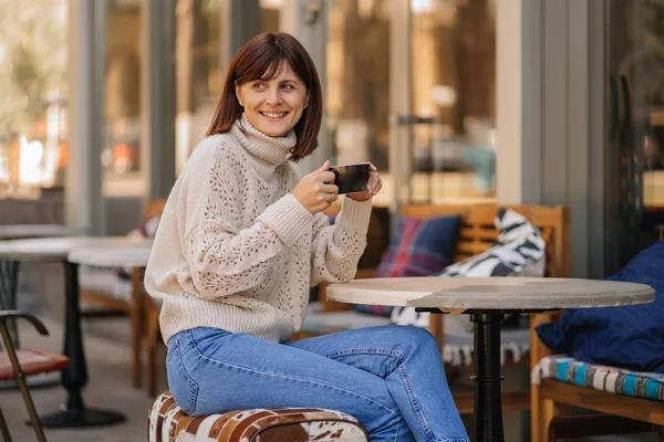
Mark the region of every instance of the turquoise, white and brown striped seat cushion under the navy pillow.
<instances>
[{"instance_id":1,"label":"turquoise, white and brown striped seat cushion under the navy pillow","mask_svg":"<svg viewBox=\"0 0 664 442\"><path fill-rule=\"evenodd\" d=\"M614 394L664 402L664 375L630 371L581 362L567 356L548 356L532 372L532 382L556 379Z\"/></svg>"}]
</instances>

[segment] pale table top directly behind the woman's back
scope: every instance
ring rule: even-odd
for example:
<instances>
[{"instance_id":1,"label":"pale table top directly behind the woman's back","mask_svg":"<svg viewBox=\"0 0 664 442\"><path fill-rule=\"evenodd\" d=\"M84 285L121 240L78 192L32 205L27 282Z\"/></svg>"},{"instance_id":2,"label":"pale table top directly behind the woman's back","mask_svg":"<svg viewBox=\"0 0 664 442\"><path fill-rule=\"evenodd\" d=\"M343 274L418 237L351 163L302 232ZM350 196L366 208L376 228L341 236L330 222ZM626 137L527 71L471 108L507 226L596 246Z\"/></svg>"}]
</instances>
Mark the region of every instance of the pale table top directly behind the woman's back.
<instances>
[{"instance_id":1,"label":"pale table top directly behind the woman's back","mask_svg":"<svg viewBox=\"0 0 664 442\"><path fill-rule=\"evenodd\" d=\"M68 261L101 267L145 267L151 251L152 241L131 245L86 245L72 249Z\"/></svg>"}]
</instances>

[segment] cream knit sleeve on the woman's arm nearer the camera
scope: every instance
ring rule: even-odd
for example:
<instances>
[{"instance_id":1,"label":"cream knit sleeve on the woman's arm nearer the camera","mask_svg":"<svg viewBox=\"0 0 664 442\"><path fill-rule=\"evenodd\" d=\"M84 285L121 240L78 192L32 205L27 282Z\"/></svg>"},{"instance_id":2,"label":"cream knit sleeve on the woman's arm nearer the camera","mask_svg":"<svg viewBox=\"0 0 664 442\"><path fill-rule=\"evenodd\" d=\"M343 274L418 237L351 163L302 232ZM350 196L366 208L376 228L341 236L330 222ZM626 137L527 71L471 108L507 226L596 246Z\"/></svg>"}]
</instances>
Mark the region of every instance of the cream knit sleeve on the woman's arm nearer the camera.
<instances>
[{"instance_id":1,"label":"cream knit sleeve on the woman's arm nearer the camera","mask_svg":"<svg viewBox=\"0 0 664 442\"><path fill-rule=\"evenodd\" d=\"M227 169L227 170L224 170ZM187 261L198 296L215 301L260 285L274 260L311 229L313 215L290 193L247 228L239 219L247 186L222 164L214 166L187 236Z\"/></svg>"}]
</instances>

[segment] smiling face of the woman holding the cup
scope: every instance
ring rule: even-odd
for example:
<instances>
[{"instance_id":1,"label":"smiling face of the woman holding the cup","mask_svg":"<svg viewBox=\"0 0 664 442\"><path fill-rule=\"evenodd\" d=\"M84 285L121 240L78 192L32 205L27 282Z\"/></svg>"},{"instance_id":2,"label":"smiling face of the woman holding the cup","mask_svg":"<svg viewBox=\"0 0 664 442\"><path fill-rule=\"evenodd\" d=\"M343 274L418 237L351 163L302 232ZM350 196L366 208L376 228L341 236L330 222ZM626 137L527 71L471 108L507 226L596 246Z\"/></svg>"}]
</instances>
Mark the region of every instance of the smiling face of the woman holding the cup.
<instances>
[{"instance_id":1,"label":"smiling face of the woman holding the cup","mask_svg":"<svg viewBox=\"0 0 664 442\"><path fill-rule=\"evenodd\" d=\"M300 120L308 105L304 83L288 63L271 80L255 80L236 86L236 94L249 122L271 137L282 137Z\"/></svg>"}]
</instances>

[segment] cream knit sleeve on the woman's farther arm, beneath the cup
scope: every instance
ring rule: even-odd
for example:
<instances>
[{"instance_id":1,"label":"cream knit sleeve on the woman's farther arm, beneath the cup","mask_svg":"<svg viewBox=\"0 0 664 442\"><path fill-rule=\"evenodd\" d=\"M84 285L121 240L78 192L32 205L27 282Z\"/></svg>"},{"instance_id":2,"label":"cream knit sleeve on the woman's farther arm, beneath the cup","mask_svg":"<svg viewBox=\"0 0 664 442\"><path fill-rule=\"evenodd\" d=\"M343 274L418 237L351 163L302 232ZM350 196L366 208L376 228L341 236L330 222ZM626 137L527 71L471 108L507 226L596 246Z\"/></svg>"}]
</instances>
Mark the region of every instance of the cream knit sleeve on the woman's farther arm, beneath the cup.
<instances>
[{"instance_id":1,"label":"cream knit sleeve on the woman's farther arm, beneath the cup","mask_svg":"<svg viewBox=\"0 0 664 442\"><path fill-rule=\"evenodd\" d=\"M355 277L357 262L366 246L371 201L344 199L334 225L319 214L311 244L311 285L322 281L347 282Z\"/></svg>"}]
</instances>

